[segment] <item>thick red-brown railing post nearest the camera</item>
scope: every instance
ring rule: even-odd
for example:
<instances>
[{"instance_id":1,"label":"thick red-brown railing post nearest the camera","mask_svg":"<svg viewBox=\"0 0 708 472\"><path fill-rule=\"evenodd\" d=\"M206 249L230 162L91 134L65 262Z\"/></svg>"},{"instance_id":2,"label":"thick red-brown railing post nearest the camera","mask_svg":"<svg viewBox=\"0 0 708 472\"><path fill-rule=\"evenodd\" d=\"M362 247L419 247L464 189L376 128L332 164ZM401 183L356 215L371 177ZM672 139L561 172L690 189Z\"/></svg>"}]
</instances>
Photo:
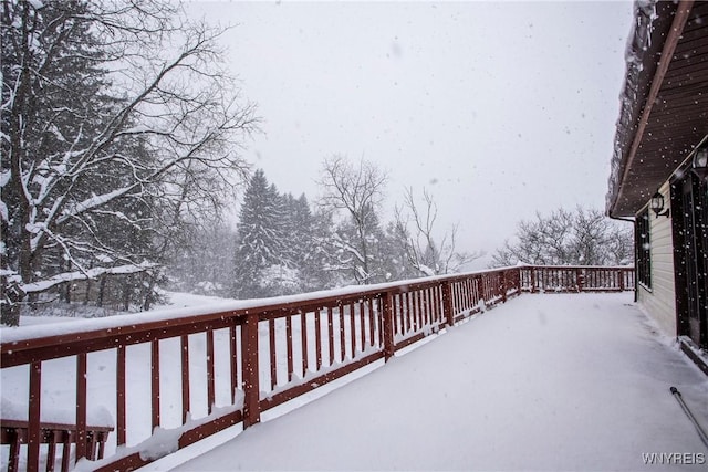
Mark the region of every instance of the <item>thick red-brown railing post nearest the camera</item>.
<instances>
[{"instance_id":1,"label":"thick red-brown railing post nearest the camera","mask_svg":"<svg viewBox=\"0 0 708 472\"><path fill-rule=\"evenodd\" d=\"M243 376L243 428L261 421L260 384L258 370L258 314L249 313L241 326Z\"/></svg>"}]
</instances>

